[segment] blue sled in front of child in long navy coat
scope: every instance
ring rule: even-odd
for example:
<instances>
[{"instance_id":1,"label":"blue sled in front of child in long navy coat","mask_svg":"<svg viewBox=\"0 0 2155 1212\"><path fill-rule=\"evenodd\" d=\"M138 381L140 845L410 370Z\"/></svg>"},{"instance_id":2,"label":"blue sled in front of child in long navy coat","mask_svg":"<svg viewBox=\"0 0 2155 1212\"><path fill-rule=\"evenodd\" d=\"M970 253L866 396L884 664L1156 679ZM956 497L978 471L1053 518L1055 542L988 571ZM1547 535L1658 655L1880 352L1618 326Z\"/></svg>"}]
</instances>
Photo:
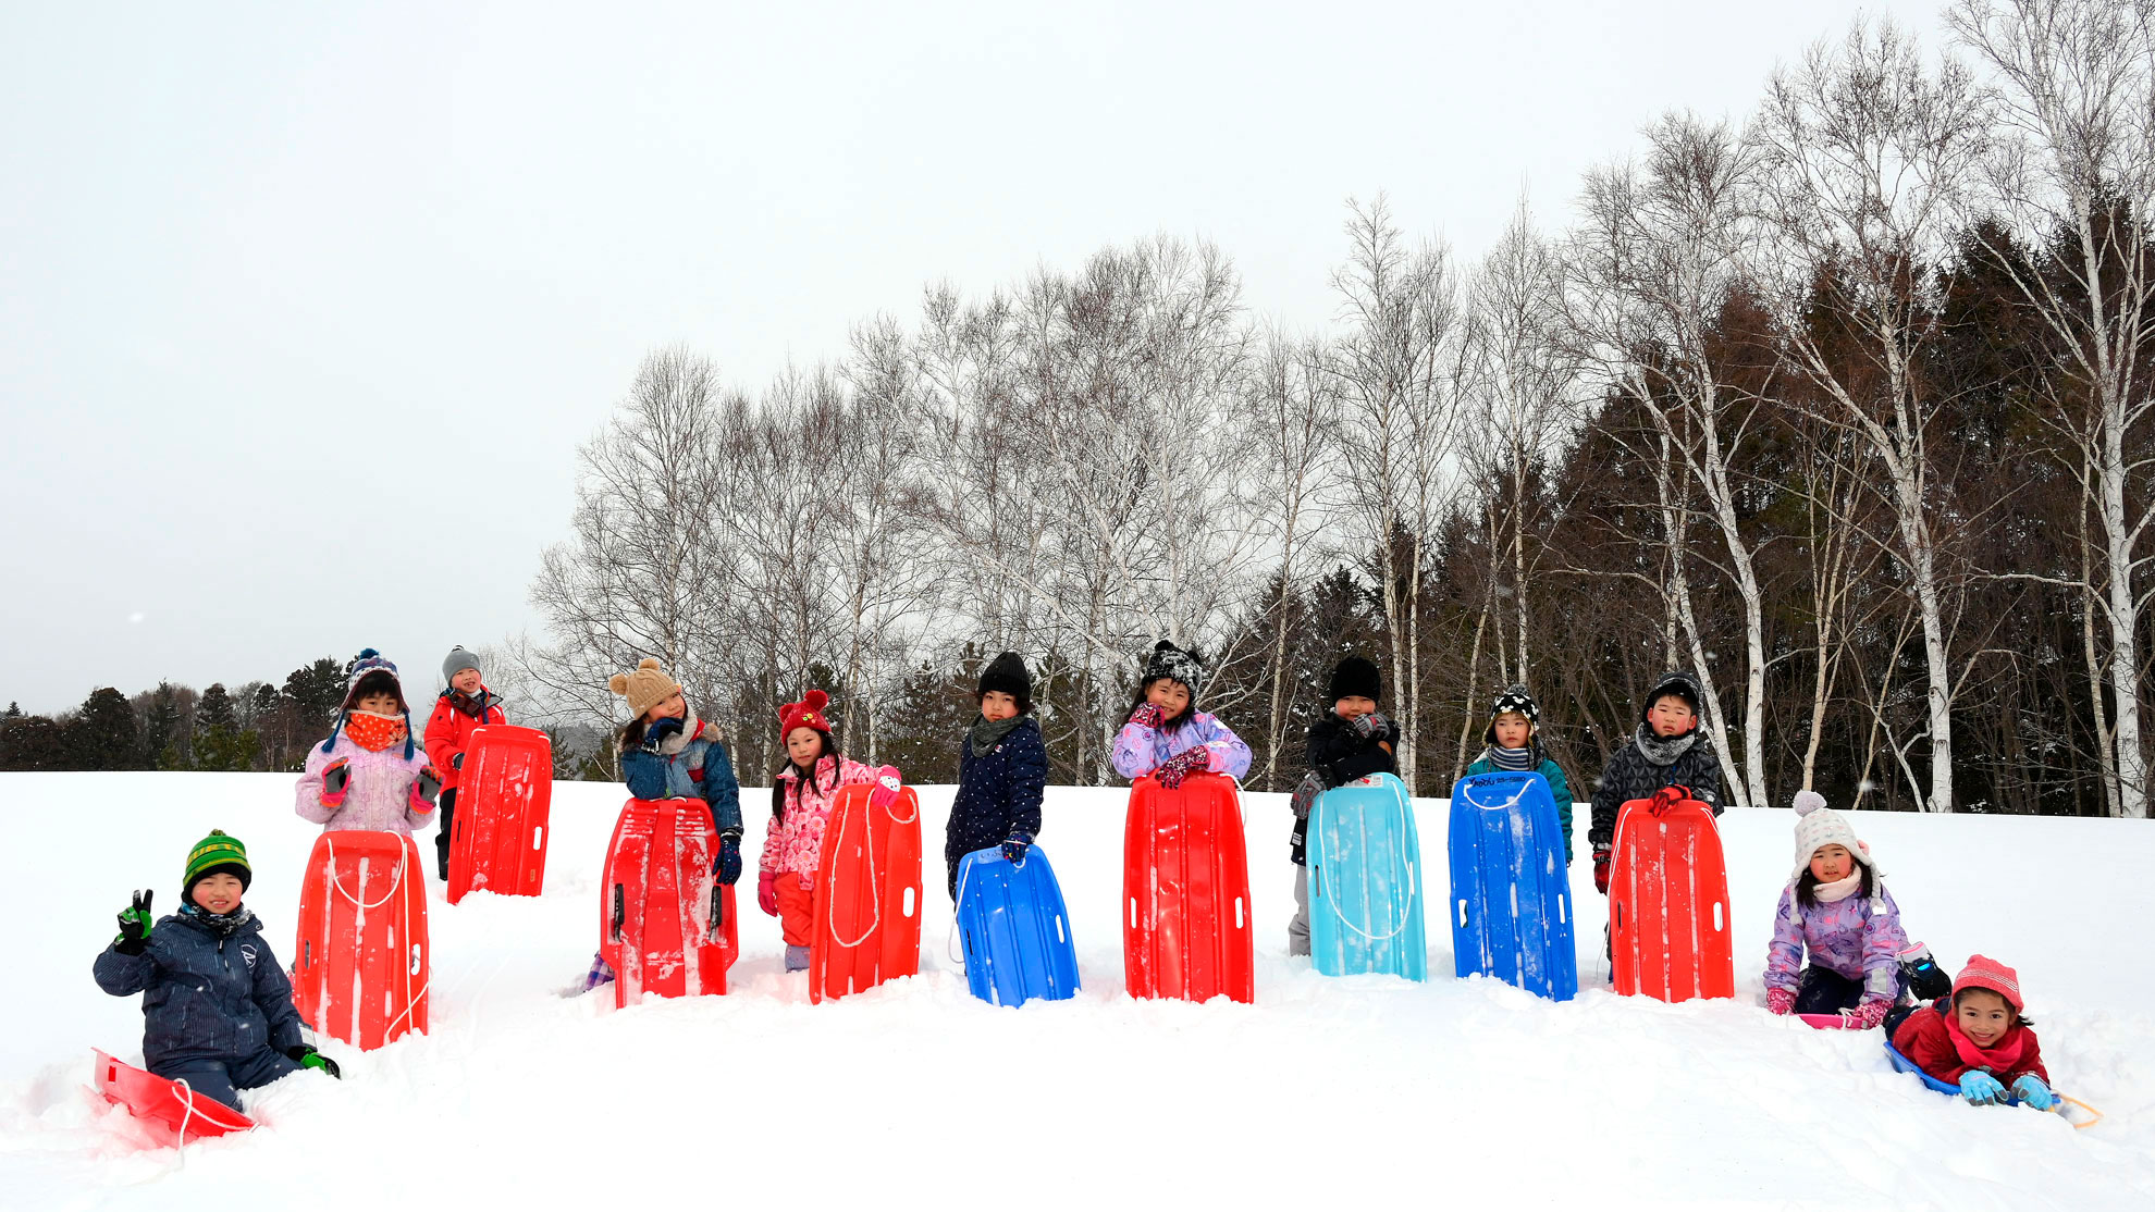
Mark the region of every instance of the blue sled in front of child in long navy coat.
<instances>
[{"instance_id":1,"label":"blue sled in front of child in long navy coat","mask_svg":"<svg viewBox=\"0 0 2155 1212\"><path fill-rule=\"evenodd\" d=\"M989 1005L1062 1001L1078 992L1078 947L1062 885L1034 846L1011 865L1000 848L974 850L957 865L957 932L965 984Z\"/></svg>"}]
</instances>

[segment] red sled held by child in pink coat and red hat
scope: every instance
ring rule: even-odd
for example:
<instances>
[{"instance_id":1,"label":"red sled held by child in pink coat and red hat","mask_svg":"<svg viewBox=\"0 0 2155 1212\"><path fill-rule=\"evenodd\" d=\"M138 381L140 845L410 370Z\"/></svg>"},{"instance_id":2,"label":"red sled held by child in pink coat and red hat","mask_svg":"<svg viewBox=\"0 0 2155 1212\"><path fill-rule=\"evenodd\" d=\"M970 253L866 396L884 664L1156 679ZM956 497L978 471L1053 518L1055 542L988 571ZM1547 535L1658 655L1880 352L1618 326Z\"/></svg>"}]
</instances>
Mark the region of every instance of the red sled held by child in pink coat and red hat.
<instances>
[{"instance_id":1,"label":"red sled held by child in pink coat and red hat","mask_svg":"<svg viewBox=\"0 0 2155 1212\"><path fill-rule=\"evenodd\" d=\"M888 775L892 786L896 773ZM838 788L823 825L808 1001L845 997L920 971L920 801L914 788Z\"/></svg>"}]
</instances>

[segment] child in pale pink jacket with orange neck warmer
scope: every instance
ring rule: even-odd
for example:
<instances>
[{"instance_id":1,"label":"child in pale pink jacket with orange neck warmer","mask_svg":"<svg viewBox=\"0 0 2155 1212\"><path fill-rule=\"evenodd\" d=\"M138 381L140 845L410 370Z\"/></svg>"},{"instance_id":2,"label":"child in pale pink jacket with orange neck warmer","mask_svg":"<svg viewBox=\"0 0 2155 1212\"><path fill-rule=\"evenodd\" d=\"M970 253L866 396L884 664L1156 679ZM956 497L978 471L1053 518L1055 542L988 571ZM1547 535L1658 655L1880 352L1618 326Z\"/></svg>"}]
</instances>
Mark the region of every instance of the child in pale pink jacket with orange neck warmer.
<instances>
[{"instance_id":1,"label":"child in pale pink jacket with orange neck warmer","mask_svg":"<svg viewBox=\"0 0 2155 1212\"><path fill-rule=\"evenodd\" d=\"M388 829L412 835L433 822L442 771L412 741L397 665L366 648L351 665L345 706L330 738L308 749L300 775L297 812L332 829Z\"/></svg>"}]
</instances>

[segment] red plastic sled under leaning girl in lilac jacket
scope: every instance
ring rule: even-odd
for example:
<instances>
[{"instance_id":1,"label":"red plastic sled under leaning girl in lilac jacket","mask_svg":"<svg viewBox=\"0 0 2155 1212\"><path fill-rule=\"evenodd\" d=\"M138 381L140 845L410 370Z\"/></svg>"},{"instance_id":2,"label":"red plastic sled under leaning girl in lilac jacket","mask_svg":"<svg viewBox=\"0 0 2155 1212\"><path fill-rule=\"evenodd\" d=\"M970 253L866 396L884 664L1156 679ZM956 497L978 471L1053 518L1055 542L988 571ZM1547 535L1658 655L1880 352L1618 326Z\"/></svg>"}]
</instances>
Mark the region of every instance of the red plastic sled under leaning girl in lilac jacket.
<instances>
[{"instance_id":1,"label":"red plastic sled under leaning girl in lilac jacket","mask_svg":"<svg viewBox=\"0 0 2155 1212\"><path fill-rule=\"evenodd\" d=\"M1123 977L1131 997L1256 999L1250 859L1235 779L1129 788L1123 825Z\"/></svg>"}]
</instances>

